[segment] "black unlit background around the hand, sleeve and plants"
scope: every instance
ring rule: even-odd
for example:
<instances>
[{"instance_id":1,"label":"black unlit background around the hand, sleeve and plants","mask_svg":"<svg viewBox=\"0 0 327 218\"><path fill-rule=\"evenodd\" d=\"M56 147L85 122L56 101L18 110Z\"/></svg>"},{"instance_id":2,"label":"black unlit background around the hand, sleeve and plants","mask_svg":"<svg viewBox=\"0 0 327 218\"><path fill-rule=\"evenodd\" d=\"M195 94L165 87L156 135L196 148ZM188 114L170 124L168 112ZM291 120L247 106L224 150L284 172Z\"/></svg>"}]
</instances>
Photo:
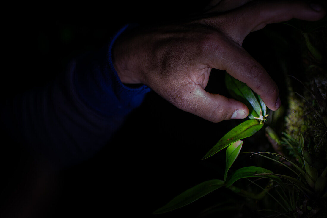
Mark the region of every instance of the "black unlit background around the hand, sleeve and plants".
<instances>
[{"instance_id":1,"label":"black unlit background around the hand, sleeve and plants","mask_svg":"<svg viewBox=\"0 0 327 218\"><path fill-rule=\"evenodd\" d=\"M2 27L1 95L14 95L51 81L64 72L73 57L105 45L128 22L172 21L197 13L205 5L206 1L171 0L5 5L3 10L8 15ZM283 74L277 64L280 56L288 63L298 63L300 58L294 56L298 54L297 45L281 45L272 33L286 38L296 33L281 24L265 29L251 33L244 47L282 84ZM276 43L283 47L279 53L273 49ZM295 64L293 70L301 70L301 66ZM223 72L213 70L207 90L228 96L222 78ZM281 86L281 93L284 89ZM211 123L150 92L108 146L94 158L59 174L40 166L24 145L12 144L3 136L3 211L13 212L13 217L198 217L203 209L233 202L236 196L221 190L174 212L156 216L151 213L200 182L223 178L224 152L200 159L239 122ZM263 136L261 130L246 139L242 150L268 149ZM258 138L261 147L254 143ZM234 169L257 161L240 155ZM261 166L269 169L267 163ZM235 208L243 207L234 204ZM235 208L228 210L231 217L250 217L244 215L246 207L242 213Z\"/></svg>"}]
</instances>

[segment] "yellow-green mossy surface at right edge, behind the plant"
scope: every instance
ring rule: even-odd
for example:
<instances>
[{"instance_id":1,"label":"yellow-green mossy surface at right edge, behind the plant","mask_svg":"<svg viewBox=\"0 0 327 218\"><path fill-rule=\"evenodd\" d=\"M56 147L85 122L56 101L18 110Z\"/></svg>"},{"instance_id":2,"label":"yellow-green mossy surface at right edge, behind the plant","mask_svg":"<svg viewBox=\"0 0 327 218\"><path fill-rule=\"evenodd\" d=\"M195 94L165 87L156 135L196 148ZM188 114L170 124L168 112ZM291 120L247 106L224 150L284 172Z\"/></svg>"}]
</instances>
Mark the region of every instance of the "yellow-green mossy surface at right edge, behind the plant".
<instances>
[{"instance_id":1,"label":"yellow-green mossy surface at right edge, behind the plant","mask_svg":"<svg viewBox=\"0 0 327 218\"><path fill-rule=\"evenodd\" d=\"M324 30L324 33L326 30ZM321 31L308 34L313 41L313 45L317 46L316 42L324 42L321 39ZM326 42L325 42L326 43ZM326 46L326 44L324 44ZM302 65L303 74L299 75L305 79L297 85L289 86L288 95L288 110L285 116L284 132L299 140L300 131L305 139L309 152L315 158L327 161L327 127L321 117L321 108L318 101L312 95L314 81L324 99L326 99L327 92L327 70L326 58L324 56L322 61L318 61L312 56L305 46L302 48ZM311 92L304 86L311 89ZM302 97L294 92L296 90ZM300 91L299 91L300 90Z\"/></svg>"}]
</instances>

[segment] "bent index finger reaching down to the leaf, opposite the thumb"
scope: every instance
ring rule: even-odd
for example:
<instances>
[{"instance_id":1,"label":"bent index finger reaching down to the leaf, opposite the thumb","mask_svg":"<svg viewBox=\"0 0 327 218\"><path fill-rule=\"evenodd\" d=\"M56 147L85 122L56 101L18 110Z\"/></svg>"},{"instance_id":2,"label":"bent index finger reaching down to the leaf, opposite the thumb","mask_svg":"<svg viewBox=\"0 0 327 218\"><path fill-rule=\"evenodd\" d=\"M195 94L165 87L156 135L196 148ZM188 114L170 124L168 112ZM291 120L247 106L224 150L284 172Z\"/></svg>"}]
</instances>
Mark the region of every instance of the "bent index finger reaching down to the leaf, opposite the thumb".
<instances>
[{"instance_id":1,"label":"bent index finger reaching down to the leaf, opposite the thumb","mask_svg":"<svg viewBox=\"0 0 327 218\"><path fill-rule=\"evenodd\" d=\"M281 106L277 84L240 45L232 40L222 42L220 39L218 46L210 47L213 49L206 56L209 67L226 70L235 79L246 83L260 95L269 109L275 111Z\"/></svg>"}]
</instances>

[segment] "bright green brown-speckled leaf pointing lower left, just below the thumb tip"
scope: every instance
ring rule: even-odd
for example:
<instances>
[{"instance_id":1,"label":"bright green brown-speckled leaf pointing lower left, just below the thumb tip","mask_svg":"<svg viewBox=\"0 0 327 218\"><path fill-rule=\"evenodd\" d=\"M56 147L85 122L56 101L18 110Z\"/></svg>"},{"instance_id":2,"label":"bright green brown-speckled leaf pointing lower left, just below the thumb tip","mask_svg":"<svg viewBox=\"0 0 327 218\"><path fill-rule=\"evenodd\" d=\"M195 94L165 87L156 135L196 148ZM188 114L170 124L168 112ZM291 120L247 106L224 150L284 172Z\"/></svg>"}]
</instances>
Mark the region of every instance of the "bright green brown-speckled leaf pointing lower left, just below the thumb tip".
<instances>
[{"instance_id":1,"label":"bright green brown-speckled leaf pointing lower left, just below the thumb tip","mask_svg":"<svg viewBox=\"0 0 327 218\"><path fill-rule=\"evenodd\" d=\"M223 136L217 144L202 158L206 159L220 150L226 148L230 144L241 140L246 137L252 136L254 133L258 132L264 124L260 124L256 119L246 120L236 127L234 127L231 131L229 131L225 136Z\"/></svg>"}]
</instances>

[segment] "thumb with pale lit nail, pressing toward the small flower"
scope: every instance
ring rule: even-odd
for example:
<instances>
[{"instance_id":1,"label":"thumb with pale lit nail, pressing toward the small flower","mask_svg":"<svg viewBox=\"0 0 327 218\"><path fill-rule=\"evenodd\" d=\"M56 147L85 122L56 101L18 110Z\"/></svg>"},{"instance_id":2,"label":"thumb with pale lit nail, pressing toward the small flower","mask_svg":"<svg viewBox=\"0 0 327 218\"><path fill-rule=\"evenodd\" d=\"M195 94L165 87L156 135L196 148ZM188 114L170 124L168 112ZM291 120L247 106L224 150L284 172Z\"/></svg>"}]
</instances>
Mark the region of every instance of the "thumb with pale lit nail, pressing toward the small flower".
<instances>
[{"instance_id":1,"label":"thumb with pale lit nail, pressing toward the small flower","mask_svg":"<svg viewBox=\"0 0 327 218\"><path fill-rule=\"evenodd\" d=\"M249 114L245 104L225 96L206 92L200 85L185 91L175 106L212 122L243 119Z\"/></svg>"}]
</instances>

